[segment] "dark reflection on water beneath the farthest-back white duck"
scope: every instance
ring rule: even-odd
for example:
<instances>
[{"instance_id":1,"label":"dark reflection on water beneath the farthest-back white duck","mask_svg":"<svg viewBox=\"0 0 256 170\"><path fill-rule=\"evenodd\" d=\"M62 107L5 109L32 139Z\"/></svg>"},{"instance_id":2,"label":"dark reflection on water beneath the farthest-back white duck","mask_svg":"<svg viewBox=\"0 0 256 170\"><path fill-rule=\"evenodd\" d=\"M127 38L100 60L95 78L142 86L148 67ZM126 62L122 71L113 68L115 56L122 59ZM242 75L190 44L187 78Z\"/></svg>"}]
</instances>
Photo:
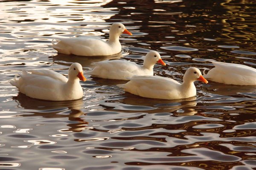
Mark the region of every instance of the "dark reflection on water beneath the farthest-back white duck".
<instances>
[{"instance_id":1,"label":"dark reflection on water beneath the farthest-back white duck","mask_svg":"<svg viewBox=\"0 0 256 170\"><path fill-rule=\"evenodd\" d=\"M124 51L119 54L114 54L111 56L93 56L93 57L84 57L84 56L76 56L76 55L65 55L65 54L57 54L55 56L49 57L52 58L53 62L61 65L70 65L69 63L78 62L83 67L90 67L91 63L99 62L107 59L120 59L127 55Z\"/></svg>"}]
</instances>

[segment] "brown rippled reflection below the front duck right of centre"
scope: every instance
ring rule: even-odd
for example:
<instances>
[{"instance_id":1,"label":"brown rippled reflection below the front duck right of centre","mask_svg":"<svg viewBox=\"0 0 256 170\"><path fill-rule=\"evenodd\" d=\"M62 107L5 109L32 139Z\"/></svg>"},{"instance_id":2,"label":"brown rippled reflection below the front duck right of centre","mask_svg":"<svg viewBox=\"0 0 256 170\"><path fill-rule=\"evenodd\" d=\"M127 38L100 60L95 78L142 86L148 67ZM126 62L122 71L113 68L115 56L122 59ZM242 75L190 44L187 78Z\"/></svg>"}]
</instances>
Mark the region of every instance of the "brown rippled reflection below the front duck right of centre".
<instances>
[{"instance_id":1,"label":"brown rippled reflection below the front duck right of centre","mask_svg":"<svg viewBox=\"0 0 256 170\"><path fill-rule=\"evenodd\" d=\"M195 115L198 112L195 110L197 101L200 98L191 97L188 99L166 100L166 99L149 99L140 96L135 96L125 93L125 98L119 99L118 102L134 105L134 106L149 106L151 109L148 113L173 113L175 116L189 116Z\"/></svg>"}]
</instances>

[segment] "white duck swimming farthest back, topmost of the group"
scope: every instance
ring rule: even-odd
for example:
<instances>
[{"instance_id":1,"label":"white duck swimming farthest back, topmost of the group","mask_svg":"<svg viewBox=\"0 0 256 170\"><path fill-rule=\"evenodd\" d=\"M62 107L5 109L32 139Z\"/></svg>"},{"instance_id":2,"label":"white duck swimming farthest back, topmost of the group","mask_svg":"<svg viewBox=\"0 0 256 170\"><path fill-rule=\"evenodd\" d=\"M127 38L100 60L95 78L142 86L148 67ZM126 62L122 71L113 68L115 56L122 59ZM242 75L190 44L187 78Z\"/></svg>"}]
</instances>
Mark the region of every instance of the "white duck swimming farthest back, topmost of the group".
<instances>
[{"instance_id":1,"label":"white duck swimming farthest back, topmost of the group","mask_svg":"<svg viewBox=\"0 0 256 170\"><path fill-rule=\"evenodd\" d=\"M109 40L98 37L56 38L52 40L52 48L61 54L75 54L79 56L108 56L121 52L119 36L124 33L132 35L121 23L113 23L109 30ZM59 40L54 43L54 40Z\"/></svg>"}]
</instances>

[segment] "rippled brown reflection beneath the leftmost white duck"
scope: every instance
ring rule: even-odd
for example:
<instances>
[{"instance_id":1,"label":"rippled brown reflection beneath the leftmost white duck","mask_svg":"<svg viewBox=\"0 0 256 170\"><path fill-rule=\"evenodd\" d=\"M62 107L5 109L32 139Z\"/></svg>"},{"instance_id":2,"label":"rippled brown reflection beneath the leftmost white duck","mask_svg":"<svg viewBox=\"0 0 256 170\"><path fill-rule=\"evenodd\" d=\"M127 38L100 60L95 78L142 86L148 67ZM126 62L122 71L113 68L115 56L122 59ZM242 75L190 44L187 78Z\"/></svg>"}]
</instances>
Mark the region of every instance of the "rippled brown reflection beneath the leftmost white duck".
<instances>
[{"instance_id":1,"label":"rippled brown reflection beneath the leftmost white duck","mask_svg":"<svg viewBox=\"0 0 256 170\"><path fill-rule=\"evenodd\" d=\"M84 130L88 122L81 118L81 116L86 115L82 112L81 106L83 100L74 100L74 101L62 101L62 102L52 102L46 100L39 100L30 98L22 93L19 93L18 96L14 96L13 99L17 102L18 108L26 109L26 116L42 116L44 118L64 118L67 117L70 121L75 121L76 123L67 124L70 128L65 131L74 131L80 132Z\"/></svg>"}]
</instances>

